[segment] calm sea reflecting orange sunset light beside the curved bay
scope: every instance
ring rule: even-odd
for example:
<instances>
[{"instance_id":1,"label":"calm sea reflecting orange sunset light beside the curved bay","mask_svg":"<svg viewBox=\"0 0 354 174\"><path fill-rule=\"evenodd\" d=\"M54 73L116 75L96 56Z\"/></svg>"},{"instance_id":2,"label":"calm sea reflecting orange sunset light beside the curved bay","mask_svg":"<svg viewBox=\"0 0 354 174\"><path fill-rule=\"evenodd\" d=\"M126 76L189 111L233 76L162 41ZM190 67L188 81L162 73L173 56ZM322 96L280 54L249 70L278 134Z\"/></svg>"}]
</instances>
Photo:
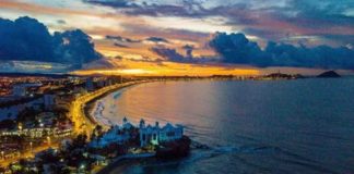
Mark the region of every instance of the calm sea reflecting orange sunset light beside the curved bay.
<instances>
[{"instance_id":1,"label":"calm sea reflecting orange sunset light beside the curved bay","mask_svg":"<svg viewBox=\"0 0 354 174\"><path fill-rule=\"evenodd\" d=\"M111 173L354 174L354 78L150 83L103 101L114 122L180 123L193 140L212 147Z\"/></svg>"}]
</instances>

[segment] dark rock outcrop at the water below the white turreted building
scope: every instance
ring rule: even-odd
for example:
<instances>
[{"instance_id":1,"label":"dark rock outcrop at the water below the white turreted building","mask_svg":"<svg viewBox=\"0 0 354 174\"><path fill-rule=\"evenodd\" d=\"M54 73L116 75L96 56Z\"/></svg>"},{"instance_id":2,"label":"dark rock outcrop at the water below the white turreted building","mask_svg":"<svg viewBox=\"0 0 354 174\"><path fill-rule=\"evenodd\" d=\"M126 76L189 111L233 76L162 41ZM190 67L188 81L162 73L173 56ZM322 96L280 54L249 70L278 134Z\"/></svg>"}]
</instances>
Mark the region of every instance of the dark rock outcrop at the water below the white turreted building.
<instances>
[{"instance_id":1,"label":"dark rock outcrop at the water below the white turreted building","mask_svg":"<svg viewBox=\"0 0 354 174\"><path fill-rule=\"evenodd\" d=\"M176 159L187 157L190 151L191 140L184 136L181 139L161 144L161 148L156 150L156 157L160 159Z\"/></svg>"}]
</instances>

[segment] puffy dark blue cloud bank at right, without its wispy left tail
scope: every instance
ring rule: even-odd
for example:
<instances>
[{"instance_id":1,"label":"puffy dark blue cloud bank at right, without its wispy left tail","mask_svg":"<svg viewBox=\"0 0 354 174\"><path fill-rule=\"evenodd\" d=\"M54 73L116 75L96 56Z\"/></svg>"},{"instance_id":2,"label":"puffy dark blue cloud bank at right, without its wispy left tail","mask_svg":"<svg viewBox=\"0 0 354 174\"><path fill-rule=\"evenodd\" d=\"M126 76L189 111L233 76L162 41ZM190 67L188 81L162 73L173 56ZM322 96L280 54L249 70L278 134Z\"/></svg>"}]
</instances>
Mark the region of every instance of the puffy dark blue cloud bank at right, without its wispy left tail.
<instances>
[{"instance_id":1,"label":"puffy dark blue cloud bank at right, without its wispy left tail","mask_svg":"<svg viewBox=\"0 0 354 174\"><path fill-rule=\"evenodd\" d=\"M324 69L354 69L354 50L318 46L307 48L269 42L262 50L244 34L217 33L210 46L222 57L222 62L255 66L297 66Z\"/></svg>"}]
</instances>

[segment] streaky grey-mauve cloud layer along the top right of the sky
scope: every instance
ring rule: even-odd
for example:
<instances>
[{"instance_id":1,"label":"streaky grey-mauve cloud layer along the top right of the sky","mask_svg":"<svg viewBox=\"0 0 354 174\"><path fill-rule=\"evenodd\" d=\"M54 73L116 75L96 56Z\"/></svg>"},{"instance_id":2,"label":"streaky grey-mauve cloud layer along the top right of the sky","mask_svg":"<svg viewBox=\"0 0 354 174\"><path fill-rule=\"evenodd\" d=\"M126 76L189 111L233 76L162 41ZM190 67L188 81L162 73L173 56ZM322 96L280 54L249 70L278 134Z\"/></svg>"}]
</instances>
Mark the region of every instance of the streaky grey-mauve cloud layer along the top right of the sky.
<instances>
[{"instance_id":1,"label":"streaky grey-mauve cloud layer along the top right of the sky","mask_svg":"<svg viewBox=\"0 0 354 174\"><path fill-rule=\"evenodd\" d=\"M98 3L97 1L86 2ZM352 0L213 2L213 5L208 7L205 5L208 1L192 0L156 1L155 3L101 0L98 4L123 9L122 12L130 15L193 18L222 16L226 18L224 25L234 25L236 28L241 26L244 33L267 40L282 40L288 36L354 35L354 2ZM345 40L334 39L332 41L339 46Z\"/></svg>"}]
</instances>

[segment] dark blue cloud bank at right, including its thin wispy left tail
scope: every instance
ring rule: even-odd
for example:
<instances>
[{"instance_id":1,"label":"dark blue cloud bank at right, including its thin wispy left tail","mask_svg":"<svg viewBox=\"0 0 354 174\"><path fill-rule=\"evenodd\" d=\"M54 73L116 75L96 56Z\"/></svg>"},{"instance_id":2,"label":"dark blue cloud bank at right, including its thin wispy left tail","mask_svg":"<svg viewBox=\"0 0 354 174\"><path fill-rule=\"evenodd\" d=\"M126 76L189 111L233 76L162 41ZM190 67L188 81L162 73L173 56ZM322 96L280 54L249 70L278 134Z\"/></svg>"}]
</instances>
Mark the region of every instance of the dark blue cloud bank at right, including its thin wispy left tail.
<instances>
[{"instance_id":1,"label":"dark blue cloud bank at right, including its thin wispy left tail","mask_svg":"<svg viewBox=\"0 0 354 174\"><path fill-rule=\"evenodd\" d=\"M319 69L354 69L354 50L347 47L333 48L317 46L308 48L304 45L294 46L269 41L264 49L249 40L244 34L216 33L209 45L217 53L215 58L193 57L193 46L186 45L186 55L176 49L164 46L151 50L166 61L178 63L228 63L245 64L258 67L293 66ZM219 57L219 59L216 59Z\"/></svg>"}]
</instances>

